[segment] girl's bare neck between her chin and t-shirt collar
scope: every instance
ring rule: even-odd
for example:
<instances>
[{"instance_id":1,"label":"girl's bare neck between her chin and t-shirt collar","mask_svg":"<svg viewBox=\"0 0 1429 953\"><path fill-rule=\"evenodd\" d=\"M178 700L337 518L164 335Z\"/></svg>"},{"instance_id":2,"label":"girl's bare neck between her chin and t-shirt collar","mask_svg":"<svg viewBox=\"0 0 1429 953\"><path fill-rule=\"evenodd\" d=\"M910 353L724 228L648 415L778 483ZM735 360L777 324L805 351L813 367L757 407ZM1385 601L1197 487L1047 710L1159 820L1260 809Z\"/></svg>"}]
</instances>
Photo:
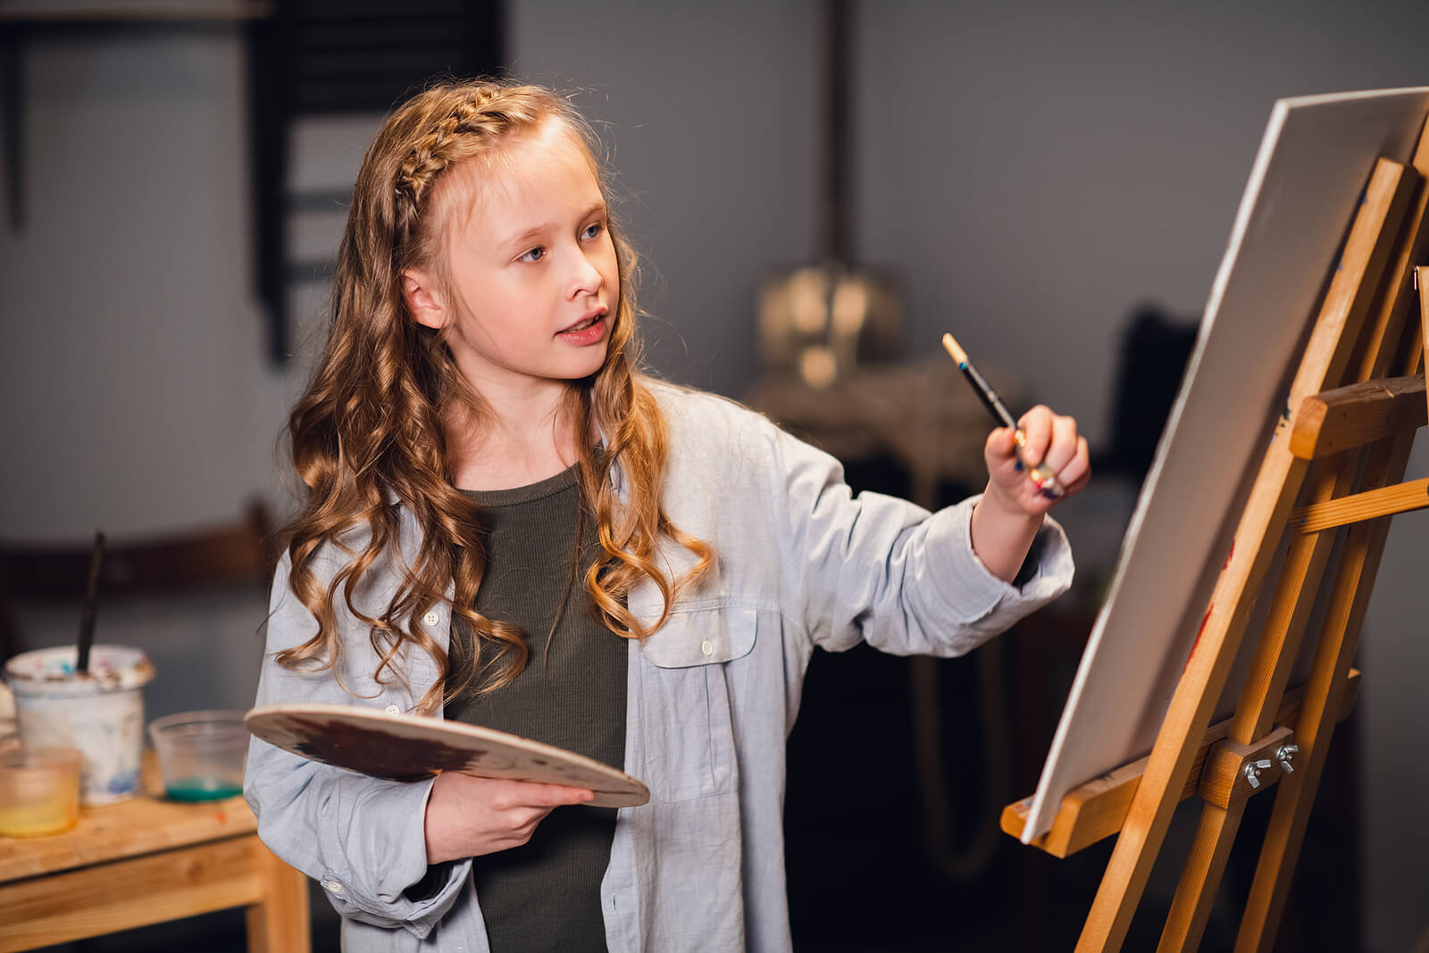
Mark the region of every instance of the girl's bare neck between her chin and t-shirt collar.
<instances>
[{"instance_id":1,"label":"girl's bare neck between her chin and t-shirt collar","mask_svg":"<svg viewBox=\"0 0 1429 953\"><path fill-rule=\"evenodd\" d=\"M483 391L479 419L447 414L447 451L459 490L509 490L539 483L579 459L566 389Z\"/></svg>"}]
</instances>

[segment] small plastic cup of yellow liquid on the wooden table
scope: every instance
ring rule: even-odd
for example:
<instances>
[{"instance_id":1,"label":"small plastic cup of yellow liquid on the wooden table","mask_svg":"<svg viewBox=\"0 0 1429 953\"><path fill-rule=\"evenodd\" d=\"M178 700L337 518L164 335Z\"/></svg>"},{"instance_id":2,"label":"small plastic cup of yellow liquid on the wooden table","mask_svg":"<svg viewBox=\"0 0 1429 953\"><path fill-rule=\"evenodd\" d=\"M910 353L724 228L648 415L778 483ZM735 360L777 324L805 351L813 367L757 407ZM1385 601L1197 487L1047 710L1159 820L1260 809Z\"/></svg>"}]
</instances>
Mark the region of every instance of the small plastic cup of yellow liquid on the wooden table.
<instances>
[{"instance_id":1,"label":"small plastic cup of yellow liquid on the wooden table","mask_svg":"<svg viewBox=\"0 0 1429 953\"><path fill-rule=\"evenodd\" d=\"M73 747L0 752L0 836L41 837L80 819L80 763Z\"/></svg>"}]
</instances>

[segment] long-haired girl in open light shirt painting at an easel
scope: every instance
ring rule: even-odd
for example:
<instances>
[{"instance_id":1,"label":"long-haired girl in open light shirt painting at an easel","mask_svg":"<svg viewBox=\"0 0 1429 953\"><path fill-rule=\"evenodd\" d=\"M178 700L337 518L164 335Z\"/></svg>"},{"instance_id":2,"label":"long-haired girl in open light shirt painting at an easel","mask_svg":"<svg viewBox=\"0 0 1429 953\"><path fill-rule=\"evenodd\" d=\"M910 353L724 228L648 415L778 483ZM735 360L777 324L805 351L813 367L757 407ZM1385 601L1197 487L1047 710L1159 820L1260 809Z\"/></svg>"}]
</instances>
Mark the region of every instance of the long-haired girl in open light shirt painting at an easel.
<instances>
[{"instance_id":1,"label":"long-haired girl in open light shirt painting at an easel","mask_svg":"<svg viewBox=\"0 0 1429 953\"><path fill-rule=\"evenodd\" d=\"M259 833L326 886L346 950L789 949L785 740L815 646L960 654L1072 579L1012 430L986 492L929 514L642 376L594 154L562 99L506 83L427 90L377 133L292 414L307 497L257 702L486 724L652 800L394 783L254 740ZM1020 426L1062 499L1086 483L1072 419Z\"/></svg>"}]
</instances>

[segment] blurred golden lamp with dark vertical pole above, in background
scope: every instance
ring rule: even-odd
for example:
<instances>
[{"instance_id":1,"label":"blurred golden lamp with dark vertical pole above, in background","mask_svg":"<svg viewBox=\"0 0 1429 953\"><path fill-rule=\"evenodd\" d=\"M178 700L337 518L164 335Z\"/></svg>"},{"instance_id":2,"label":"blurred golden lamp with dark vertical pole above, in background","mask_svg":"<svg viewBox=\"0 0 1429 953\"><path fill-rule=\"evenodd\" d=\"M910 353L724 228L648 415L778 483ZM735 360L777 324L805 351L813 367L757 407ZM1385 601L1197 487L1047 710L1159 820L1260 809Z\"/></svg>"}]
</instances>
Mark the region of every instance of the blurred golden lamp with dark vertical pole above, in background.
<instances>
[{"instance_id":1,"label":"blurred golden lamp with dark vertical pole above, in background","mask_svg":"<svg viewBox=\"0 0 1429 953\"><path fill-rule=\"evenodd\" d=\"M859 364L897 357L903 327L895 283L853 264L849 1L825 0L820 11L819 260L766 281L759 296L766 370L815 389Z\"/></svg>"}]
</instances>

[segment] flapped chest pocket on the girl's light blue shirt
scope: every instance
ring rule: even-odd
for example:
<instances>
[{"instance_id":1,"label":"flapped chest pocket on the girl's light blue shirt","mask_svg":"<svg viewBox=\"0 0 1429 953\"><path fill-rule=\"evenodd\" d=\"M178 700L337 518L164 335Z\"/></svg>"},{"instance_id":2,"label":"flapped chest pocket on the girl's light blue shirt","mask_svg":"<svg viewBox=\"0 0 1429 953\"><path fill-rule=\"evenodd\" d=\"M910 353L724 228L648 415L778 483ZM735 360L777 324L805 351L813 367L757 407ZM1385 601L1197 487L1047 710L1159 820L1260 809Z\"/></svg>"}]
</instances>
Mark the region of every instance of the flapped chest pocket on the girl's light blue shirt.
<instances>
[{"instance_id":1,"label":"flapped chest pocket on the girl's light blue shirt","mask_svg":"<svg viewBox=\"0 0 1429 953\"><path fill-rule=\"evenodd\" d=\"M644 780L663 802L739 786L730 663L755 647L755 610L730 606L670 616L640 646Z\"/></svg>"}]
</instances>

